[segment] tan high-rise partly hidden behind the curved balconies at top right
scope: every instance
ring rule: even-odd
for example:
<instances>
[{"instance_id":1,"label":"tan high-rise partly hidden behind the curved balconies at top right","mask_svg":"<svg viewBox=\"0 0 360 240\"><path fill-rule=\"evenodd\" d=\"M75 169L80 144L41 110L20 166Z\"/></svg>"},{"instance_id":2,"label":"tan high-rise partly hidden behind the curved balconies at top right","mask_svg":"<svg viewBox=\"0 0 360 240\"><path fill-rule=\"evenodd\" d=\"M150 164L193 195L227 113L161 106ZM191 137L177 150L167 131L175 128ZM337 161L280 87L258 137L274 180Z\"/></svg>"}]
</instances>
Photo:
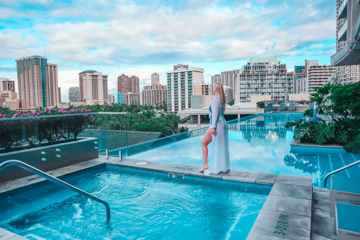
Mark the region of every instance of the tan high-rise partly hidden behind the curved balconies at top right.
<instances>
[{"instance_id":1,"label":"tan high-rise partly hidden behind the curved balconies at top right","mask_svg":"<svg viewBox=\"0 0 360 240\"><path fill-rule=\"evenodd\" d=\"M339 14L341 10L341 6L342 5L347 5L347 4L343 4L344 0L337 0L337 19L336 19L336 39L338 39L339 37L339 30L340 28L342 28L342 26L345 27L345 22L346 18L339 18ZM345 0L345 2L347 3L347 0ZM343 6L346 7L347 6ZM346 39L345 39L346 40ZM341 50L345 49L347 46L346 41L337 41L336 42L336 54L339 53ZM332 57L334 57L336 54L334 54ZM354 82L359 82L359 65L347 65L347 66L338 66L336 67L336 73L339 76L340 79L340 83L341 84L348 84L348 83L354 83Z\"/></svg>"}]
</instances>

